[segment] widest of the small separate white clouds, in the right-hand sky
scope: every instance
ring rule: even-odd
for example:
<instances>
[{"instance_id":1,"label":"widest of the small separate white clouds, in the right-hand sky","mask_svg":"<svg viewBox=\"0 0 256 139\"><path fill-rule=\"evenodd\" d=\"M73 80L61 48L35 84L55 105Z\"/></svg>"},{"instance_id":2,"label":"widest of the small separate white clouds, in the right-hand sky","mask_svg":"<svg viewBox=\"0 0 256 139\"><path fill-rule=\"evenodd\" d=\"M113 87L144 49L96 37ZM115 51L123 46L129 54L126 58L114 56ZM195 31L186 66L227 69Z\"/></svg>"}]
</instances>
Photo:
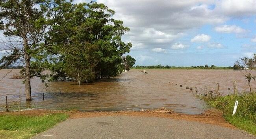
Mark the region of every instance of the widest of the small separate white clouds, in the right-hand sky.
<instances>
[{"instance_id":1,"label":"widest of the small separate white clouds, in the right-hand sky","mask_svg":"<svg viewBox=\"0 0 256 139\"><path fill-rule=\"evenodd\" d=\"M221 33L245 33L247 32L245 29L242 29L239 26L236 25L223 25L219 27L215 27L215 31L221 32Z\"/></svg>"}]
</instances>

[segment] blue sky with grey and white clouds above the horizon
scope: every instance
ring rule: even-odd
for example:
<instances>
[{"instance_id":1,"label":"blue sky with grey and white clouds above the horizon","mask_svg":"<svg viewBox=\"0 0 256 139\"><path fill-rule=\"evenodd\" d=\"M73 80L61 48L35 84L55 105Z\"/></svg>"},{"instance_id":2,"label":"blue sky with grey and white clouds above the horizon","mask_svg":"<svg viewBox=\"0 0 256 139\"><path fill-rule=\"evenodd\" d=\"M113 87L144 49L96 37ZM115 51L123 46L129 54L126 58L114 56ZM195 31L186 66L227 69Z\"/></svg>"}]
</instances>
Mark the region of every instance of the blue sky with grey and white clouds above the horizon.
<instances>
[{"instance_id":1,"label":"blue sky with grey and white clouds above the horizon","mask_svg":"<svg viewBox=\"0 0 256 139\"><path fill-rule=\"evenodd\" d=\"M96 1L130 28L135 65L233 66L256 53L256 0Z\"/></svg>"}]
</instances>

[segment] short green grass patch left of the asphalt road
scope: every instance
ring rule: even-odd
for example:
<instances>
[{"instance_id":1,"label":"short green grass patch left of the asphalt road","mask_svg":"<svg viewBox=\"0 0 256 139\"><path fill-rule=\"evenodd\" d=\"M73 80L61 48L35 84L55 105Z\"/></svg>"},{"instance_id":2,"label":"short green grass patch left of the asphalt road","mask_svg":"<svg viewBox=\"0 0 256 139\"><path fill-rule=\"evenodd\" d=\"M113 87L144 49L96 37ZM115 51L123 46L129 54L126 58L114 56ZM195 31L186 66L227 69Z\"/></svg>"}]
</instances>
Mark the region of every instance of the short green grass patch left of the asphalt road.
<instances>
[{"instance_id":1,"label":"short green grass patch left of the asphalt road","mask_svg":"<svg viewBox=\"0 0 256 139\"><path fill-rule=\"evenodd\" d=\"M44 116L0 115L1 139L26 139L66 120L68 115L56 113Z\"/></svg>"}]
</instances>

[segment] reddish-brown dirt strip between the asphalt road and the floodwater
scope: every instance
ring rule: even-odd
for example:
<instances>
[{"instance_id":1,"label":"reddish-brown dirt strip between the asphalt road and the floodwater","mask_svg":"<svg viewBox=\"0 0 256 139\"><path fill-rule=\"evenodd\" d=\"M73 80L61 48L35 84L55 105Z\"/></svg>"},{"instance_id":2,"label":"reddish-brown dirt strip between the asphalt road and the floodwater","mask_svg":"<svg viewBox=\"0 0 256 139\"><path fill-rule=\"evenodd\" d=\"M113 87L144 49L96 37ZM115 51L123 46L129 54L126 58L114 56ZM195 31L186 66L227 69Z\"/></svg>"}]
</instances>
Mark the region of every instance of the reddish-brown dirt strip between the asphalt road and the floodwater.
<instances>
[{"instance_id":1,"label":"reddish-brown dirt strip between the asphalt road and the floodwater","mask_svg":"<svg viewBox=\"0 0 256 139\"><path fill-rule=\"evenodd\" d=\"M99 116L140 116L140 117L163 117L176 120L195 121L206 124L213 124L228 128L235 128L235 126L226 122L223 118L223 113L216 109L208 110L202 114L189 115L184 113L162 113L162 112L146 112L146 111L115 111L115 112L78 112L78 111L51 111L51 110L25 110L21 115L41 116L52 113L67 113L69 118L85 118L85 117L99 117ZM19 112L0 112L0 115L13 114L19 115Z\"/></svg>"}]
</instances>

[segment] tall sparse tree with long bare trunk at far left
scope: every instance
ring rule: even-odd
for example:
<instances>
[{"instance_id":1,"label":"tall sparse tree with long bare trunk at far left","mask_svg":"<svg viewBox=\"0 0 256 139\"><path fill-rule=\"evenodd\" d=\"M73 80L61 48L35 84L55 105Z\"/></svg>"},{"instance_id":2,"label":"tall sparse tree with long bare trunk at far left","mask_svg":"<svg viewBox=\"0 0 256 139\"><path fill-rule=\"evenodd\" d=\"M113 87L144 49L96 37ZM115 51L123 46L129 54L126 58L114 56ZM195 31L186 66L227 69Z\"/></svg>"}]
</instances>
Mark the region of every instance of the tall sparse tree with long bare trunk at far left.
<instances>
[{"instance_id":1,"label":"tall sparse tree with long bare trunk at far left","mask_svg":"<svg viewBox=\"0 0 256 139\"><path fill-rule=\"evenodd\" d=\"M46 26L43 12L37 8L43 0L1 0L0 1L0 30L7 37L6 45L1 50L8 53L0 60L1 68L17 62L23 62L26 100L31 101L30 79L41 76L43 67L37 60L45 59ZM33 63L32 63L33 59Z\"/></svg>"}]
</instances>

